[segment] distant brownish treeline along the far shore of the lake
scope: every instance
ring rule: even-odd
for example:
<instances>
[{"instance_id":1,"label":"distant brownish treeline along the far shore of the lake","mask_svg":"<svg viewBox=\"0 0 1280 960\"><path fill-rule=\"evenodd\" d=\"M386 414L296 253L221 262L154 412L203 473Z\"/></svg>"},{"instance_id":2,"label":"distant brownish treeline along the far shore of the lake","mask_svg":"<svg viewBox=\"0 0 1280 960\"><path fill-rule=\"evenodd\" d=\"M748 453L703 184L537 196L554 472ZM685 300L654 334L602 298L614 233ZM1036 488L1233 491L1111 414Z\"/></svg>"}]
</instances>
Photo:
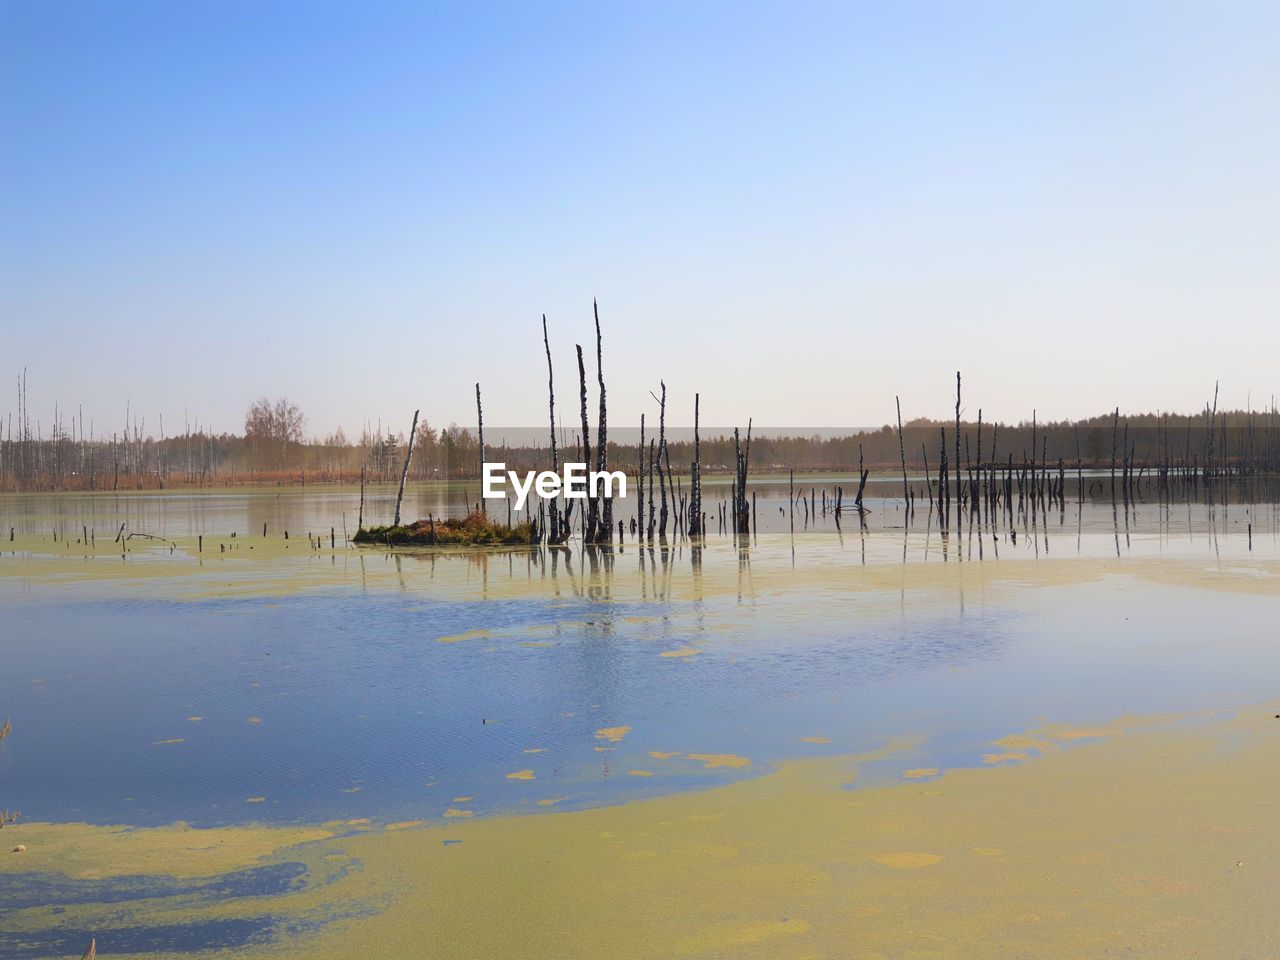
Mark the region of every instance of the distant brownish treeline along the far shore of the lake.
<instances>
[{"instance_id":1,"label":"distant brownish treeline along the far shore of the lake","mask_svg":"<svg viewBox=\"0 0 1280 960\"><path fill-rule=\"evenodd\" d=\"M265 406L264 406L265 404ZM79 420L55 419L50 436L41 435L19 408L9 416L0 439L0 489L14 490L134 490L168 486L229 484L353 483L365 471L370 481L399 479L404 435L366 429L358 440L342 431L303 440L302 416L292 404L260 401L246 416L244 434L184 430L177 436L152 436L133 422L108 438L86 435ZM751 470L845 471L900 470L936 474L940 451L956 457L956 422L913 420L904 424L901 453L896 425L846 436L754 436ZM943 439L945 438L945 439ZM742 433L745 440L745 431ZM562 460L576 454L579 436L558 435ZM685 476L694 458L691 440L668 440L673 474ZM1196 415L1105 413L1074 422L1012 424L960 422L961 465L1015 465L1034 458L1048 466L1059 461L1074 467L1107 467L1112 456L1128 457L1135 471L1166 463L1197 470L1212 462L1217 470L1249 472L1280 463L1280 415L1268 411L1204 411ZM511 470L545 470L545 445L494 447L485 460L504 461ZM639 444L608 444L609 467L634 472ZM480 449L475 433L451 425L420 424L410 480L476 480ZM701 438L701 472L733 472L733 438ZM955 463L952 462L952 468Z\"/></svg>"}]
</instances>

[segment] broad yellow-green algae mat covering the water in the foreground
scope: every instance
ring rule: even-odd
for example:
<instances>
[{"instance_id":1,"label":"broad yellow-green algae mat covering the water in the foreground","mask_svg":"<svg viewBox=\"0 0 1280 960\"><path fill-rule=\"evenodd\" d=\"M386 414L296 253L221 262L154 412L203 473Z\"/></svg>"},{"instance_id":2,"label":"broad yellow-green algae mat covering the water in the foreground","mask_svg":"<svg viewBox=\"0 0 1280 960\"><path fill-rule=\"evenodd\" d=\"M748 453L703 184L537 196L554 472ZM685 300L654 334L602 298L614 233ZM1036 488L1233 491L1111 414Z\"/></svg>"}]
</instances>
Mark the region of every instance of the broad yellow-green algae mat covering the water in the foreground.
<instances>
[{"instance_id":1,"label":"broad yellow-green algae mat covering the water in the foreground","mask_svg":"<svg viewBox=\"0 0 1280 960\"><path fill-rule=\"evenodd\" d=\"M288 831L262 828L229 831L246 845L234 855L173 828L22 824L13 836L46 858L40 869L73 873L207 873L273 851L316 870L337 852L358 864L218 908L346 918L244 957L416 956L424 945L495 960L799 960L849 956L850 945L867 957L1262 955L1280 888L1275 713L1087 739L1029 763L948 771L928 791L850 791L872 758L823 758L703 792L289 850L278 847ZM60 833L83 841L78 858L49 849ZM13 860L0 863L31 869ZM116 908L79 909L76 923L110 925Z\"/></svg>"}]
</instances>

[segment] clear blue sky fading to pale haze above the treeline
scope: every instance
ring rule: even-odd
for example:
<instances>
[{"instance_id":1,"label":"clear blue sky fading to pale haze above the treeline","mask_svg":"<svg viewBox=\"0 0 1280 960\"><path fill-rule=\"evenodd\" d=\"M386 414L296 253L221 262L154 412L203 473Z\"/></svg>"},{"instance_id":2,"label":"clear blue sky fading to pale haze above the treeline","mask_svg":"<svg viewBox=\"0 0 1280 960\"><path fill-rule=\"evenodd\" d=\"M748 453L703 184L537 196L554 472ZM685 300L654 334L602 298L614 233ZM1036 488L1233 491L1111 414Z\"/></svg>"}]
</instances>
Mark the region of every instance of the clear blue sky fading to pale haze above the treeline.
<instances>
[{"instance_id":1,"label":"clear blue sky fading to pale haze above the treeline","mask_svg":"<svg viewBox=\"0 0 1280 960\"><path fill-rule=\"evenodd\" d=\"M99 431L538 424L547 312L568 421L595 296L617 424L957 367L988 419L1258 406L1277 50L1263 3L8 0L0 372Z\"/></svg>"}]
</instances>

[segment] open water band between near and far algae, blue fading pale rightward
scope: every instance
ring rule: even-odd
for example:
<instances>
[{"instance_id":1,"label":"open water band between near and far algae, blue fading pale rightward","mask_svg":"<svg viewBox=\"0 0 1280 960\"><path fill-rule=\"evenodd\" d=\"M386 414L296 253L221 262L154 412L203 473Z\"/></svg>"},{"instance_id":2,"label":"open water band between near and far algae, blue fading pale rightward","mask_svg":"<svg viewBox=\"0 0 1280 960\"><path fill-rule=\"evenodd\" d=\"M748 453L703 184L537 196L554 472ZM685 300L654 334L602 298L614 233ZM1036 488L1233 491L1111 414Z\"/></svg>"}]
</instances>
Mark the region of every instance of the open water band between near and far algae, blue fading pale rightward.
<instances>
[{"instance_id":1,"label":"open water band between near and far algae, blue fading pale rightward","mask_svg":"<svg viewBox=\"0 0 1280 960\"><path fill-rule=\"evenodd\" d=\"M973 765L1044 721L1274 695L1274 600L1220 599L1116 580L1036 588L1027 604L896 590L19 602L3 637L3 801L140 826L430 820L617 803L924 737L865 785L896 764ZM1206 640L1224 635L1230 658Z\"/></svg>"}]
</instances>

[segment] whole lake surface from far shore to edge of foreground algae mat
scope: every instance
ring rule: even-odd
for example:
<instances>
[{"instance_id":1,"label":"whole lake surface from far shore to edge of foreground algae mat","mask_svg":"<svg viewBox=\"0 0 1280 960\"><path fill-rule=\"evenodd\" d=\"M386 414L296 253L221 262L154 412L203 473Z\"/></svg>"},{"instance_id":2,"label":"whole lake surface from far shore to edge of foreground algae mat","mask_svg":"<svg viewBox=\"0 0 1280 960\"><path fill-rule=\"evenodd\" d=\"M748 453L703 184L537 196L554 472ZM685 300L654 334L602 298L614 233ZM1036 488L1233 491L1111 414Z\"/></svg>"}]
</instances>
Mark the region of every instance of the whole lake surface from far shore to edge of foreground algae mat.
<instances>
[{"instance_id":1,"label":"whole lake surface from far shore to edge of foreground algae mat","mask_svg":"<svg viewBox=\"0 0 1280 960\"><path fill-rule=\"evenodd\" d=\"M411 493L408 516L451 497ZM943 538L881 498L865 526L791 535L786 486L760 493L749 543L484 554L347 547L351 490L0 498L0 806L197 826L539 812L904 735L922 768L975 765L1037 722L1275 692L1274 506L1089 499ZM173 544L122 554L122 522ZM878 776L897 774L860 782Z\"/></svg>"}]
</instances>

